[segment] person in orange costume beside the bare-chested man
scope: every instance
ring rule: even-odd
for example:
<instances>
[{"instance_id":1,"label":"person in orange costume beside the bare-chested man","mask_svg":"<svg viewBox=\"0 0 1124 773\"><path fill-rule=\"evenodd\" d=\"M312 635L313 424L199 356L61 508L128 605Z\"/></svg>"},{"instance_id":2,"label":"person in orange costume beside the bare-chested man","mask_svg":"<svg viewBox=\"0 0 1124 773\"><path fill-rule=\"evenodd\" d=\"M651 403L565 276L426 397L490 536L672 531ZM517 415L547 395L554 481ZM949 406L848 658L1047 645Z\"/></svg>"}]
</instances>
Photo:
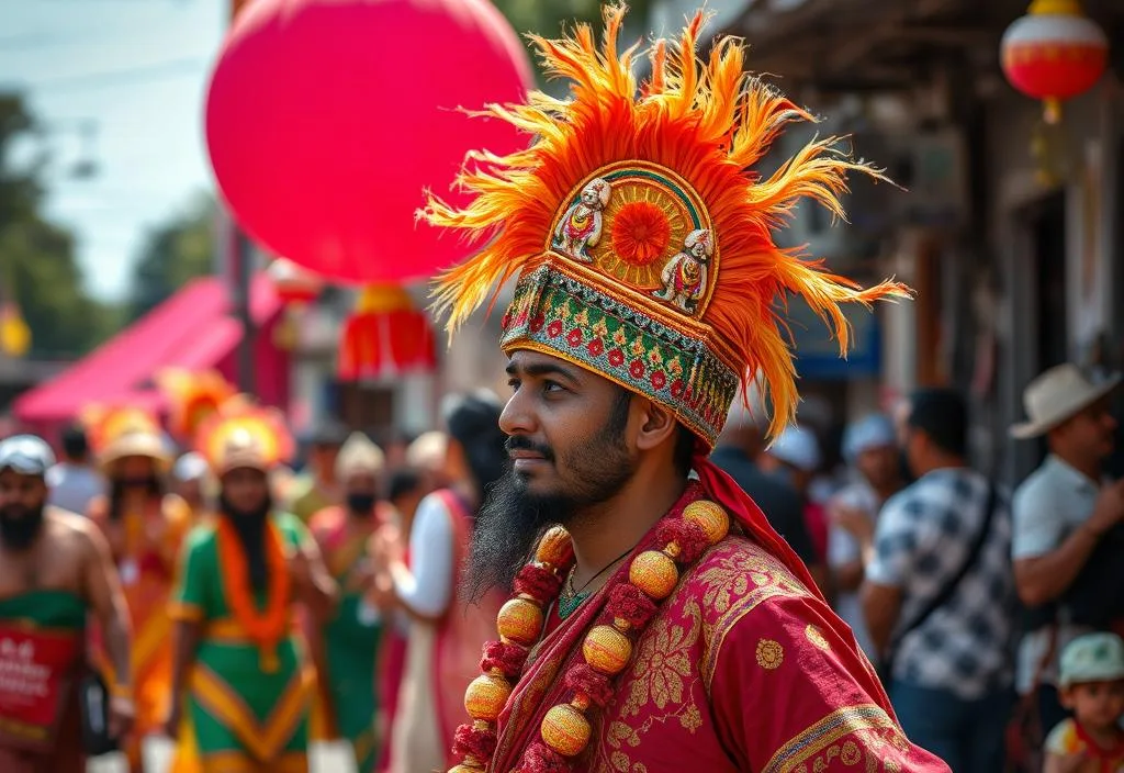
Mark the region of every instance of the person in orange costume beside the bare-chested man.
<instances>
[{"instance_id":1,"label":"person in orange costume beside the bare-chested man","mask_svg":"<svg viewBox=\"0 0 1124 773\"><path fill-rule=\"evenodd\" d=\"M94 409L91 416L109 493L94 499L88 515L109 542L133 621L128 680L136 688L137 716L126 753L130 769L139 772L142 740L160 730L167 713L172 688L167 602L175 560L191 528L192 513L187 502L165 491L171 455L153 416L135 408ZM103 649L94 647L107 681L119 680Z\"/></svg>"}]
</instances>

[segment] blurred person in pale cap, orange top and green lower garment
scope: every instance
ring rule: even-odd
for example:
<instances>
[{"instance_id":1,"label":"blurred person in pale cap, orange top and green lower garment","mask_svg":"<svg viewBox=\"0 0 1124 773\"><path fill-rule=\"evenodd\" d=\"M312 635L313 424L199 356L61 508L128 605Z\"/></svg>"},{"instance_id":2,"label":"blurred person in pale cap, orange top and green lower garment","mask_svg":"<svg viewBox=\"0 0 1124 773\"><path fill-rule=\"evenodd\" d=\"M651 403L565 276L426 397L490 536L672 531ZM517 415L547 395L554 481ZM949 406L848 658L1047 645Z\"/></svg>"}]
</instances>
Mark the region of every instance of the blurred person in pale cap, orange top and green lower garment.
<instances>
[{"instance_id":1,"label":"blurred person in pale cap, orange top and green lower garment","mask_svg":"<svg viewBox=\"0 0 1124 773\"><path fill-rule=\"evenodd\" d=\"M377 726L375 666L383 621L363 598L372 575L368 540L387 521L379 490L386 460L362 433L344 444L336 461L336 480L344 486L344 504L320 510L310 522L328 570L342 595L335 615L320 627L319 667L325 712L332 718L332 737L351 743L356 770L370 773L382 735Z\"/></svg>"}]
</instances>

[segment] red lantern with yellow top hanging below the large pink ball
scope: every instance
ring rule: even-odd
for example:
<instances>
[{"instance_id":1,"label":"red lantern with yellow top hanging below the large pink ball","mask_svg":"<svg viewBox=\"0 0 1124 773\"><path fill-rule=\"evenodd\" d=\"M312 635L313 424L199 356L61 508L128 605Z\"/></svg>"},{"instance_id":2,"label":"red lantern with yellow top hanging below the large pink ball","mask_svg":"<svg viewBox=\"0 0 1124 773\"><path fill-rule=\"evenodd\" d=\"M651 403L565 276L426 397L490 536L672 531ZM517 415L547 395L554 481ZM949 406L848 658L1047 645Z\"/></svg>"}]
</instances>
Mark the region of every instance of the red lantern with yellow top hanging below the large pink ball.
<instances>
[{"instance_id":1,"label":"red lantern with yellow top hanging below the large pink ball","mask_svg":"<svg viewBox=\"0 0 1124 773\"><path fill-rule=\"evenodd\" d=\"M433 329L406 290L377 284L363 290L355 313L344 322L337 373L342 381L366 381L429 373L437 365Z\"/></svg>"}]
</instances>

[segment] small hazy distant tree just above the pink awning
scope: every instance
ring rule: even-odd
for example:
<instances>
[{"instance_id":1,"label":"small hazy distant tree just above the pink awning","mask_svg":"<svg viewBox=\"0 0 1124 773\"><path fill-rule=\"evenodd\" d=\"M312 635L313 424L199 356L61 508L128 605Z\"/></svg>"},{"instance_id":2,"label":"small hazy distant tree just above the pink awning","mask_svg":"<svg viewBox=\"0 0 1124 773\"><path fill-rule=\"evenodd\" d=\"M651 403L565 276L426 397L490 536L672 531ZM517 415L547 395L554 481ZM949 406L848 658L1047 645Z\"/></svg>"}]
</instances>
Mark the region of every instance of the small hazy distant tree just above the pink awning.
<instances>
[{"instance_id":1,"label":"small hazy distant tree just above the pink awning","mask_svg":"<svg viewBox=\"0 0 1124 773\"><path fill-rule=\"evenodd\" d=\"M215 271L216 206L194 197L181 212L148 231L133 269L126 319L133 321L197 276Z\"/></svg>"}]
</instances>

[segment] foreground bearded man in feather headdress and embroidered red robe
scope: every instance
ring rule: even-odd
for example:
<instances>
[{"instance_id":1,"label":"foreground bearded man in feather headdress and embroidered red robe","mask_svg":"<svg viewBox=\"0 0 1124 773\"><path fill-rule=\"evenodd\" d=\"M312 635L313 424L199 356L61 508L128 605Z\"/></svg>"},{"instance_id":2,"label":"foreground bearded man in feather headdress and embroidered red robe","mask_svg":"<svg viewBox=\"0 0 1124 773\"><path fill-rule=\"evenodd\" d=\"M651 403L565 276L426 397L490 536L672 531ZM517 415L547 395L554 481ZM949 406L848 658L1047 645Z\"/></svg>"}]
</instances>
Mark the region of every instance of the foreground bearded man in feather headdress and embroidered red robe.
<instances>
[{"instance_id":1,"label":"foreground bearded man in feather headdress and embroidered red robe","mask_svg":"<svg viewBox=\"0 0 1124 773\"><path fill-rule=\"evenodd\" d=\"M653 46L637 96L623 15L607 11L600 49L586 26L534 38L570 99L489 108L534 143L475 156L464 209L430 198L424 211L487 237L441 280L453 327L519 276L502 338L514 472L478 518L472 567L491 584L532 563L466 691L455 770L948 771L906 739L807 570L706 457L754 374L771 431L792 419L781 293L803 294L845 345L841 302L906 292L859 290L771 238L798 198L839 212L844 174L870 170L817 140L760 176L770 142L807 113L743 73L736 40L700 61L701 15L678 45ZM611 199L587 264L551 237L593 179ZM697 229L714 251L685 311L654 292Z\"/></svg>"}]
</instances>

